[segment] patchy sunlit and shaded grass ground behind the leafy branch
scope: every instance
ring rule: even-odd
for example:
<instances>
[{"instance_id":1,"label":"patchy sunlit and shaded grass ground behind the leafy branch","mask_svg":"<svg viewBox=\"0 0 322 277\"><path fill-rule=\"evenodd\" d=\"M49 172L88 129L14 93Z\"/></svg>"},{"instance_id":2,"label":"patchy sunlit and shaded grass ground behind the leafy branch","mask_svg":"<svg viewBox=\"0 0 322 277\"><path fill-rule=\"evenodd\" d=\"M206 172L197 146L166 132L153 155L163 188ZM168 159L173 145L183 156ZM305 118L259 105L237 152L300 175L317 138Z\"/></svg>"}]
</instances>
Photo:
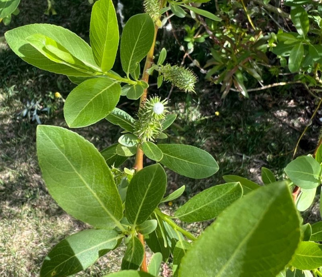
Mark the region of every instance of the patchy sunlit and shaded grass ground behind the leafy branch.
<instances>
[{"instance_id":1,"label":"patchy sunlit and shaded grass ground behind the leafy branch","mask_svg":"<svg viewBox=\"0 0 322 277\"><path fill-rule=\"evenodd\" d=\"M128 1L129 7L133 3ZM137 5L132 6L138 9ZM45 9L45 1L38 4L23 0L21 14L14 17L10 26L0 27L0 36L10 28L46 22L71 29L88 41L91 6L87 1L56 0L57 16L43 15ZM128 17L133 11L125 12ZM169 60L180 60L183 53L178 51L174 40L170 37L165 41L169 41L169 45L159 43L158 48L169 47ZM55 104L57 110L51 117L41 114L41 120L66 127L62 105L50 95L59 91L66 97L73 85L64 76L26 64L5 43L0 45L0 68L0 275L37 276L41 262L53 245L88 226L65 214L48 194L37 163L36 124L27 118L18 119L17 113L27 101L42 99L43 107ZM154 88L151 88L151 94L156 92ZM165 84L160 94L167 96L169 90L169 84ZM178 113L178 118L168 131L169 142L207 150L218 161L220 170L205 180L192 180L167 170L168 192L183 184L187 186L183 197L165 207L169 213L196 192L223 183L222 176L226 174L261 182L260 169L265 166L280 177L314 110L314 101L302 92L301 87L253 93L250 100L240 99L234 93L222 100L218 90L218 87L204 82L201 76L196 95L178 91L172 94L171 109ZM127 104L127 100L122 102L123 107L128 107L128 111L134 114L137 107ZM320 124L319 120L312 122L299 154L312 152ZM76 131L99 150L115 143L120 135L120 130L106 121ZM198 234L208 224L186 227ZM86 273L77 276L98 277L118 270L123 249L109 253Z\"/></svg>"}]
</instances>

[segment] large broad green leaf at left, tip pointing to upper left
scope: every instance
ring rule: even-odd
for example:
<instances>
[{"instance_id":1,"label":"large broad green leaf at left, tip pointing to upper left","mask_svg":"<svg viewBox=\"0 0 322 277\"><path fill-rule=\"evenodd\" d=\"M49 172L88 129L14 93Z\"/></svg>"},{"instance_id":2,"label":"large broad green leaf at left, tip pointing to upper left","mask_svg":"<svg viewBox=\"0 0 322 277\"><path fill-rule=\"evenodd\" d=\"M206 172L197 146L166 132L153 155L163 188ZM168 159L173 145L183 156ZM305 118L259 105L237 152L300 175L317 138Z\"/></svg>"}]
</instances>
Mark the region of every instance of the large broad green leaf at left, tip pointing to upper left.
<instances>
[{"instance_id":1,"label":"large broad green leaf at left, tip pointing to upper left","mask_svg":"<svg viewBox=\"0 0 322 277\"><path fill-rule=\"evenodd\" d=\"M67 129L38 125L37 155L51 196L68 214L96 228L119 226L120 195L99 151Z\"/></svg>"}]
</instances>

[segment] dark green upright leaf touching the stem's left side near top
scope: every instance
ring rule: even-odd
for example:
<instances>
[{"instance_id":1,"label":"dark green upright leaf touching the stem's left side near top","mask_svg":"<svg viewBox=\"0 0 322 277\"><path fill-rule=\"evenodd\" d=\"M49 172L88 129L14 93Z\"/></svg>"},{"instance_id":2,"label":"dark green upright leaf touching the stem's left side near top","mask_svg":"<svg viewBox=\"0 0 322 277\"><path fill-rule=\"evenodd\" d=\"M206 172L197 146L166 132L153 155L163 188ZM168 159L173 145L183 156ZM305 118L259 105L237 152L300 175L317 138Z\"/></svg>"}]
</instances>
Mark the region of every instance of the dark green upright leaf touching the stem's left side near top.
<instances>
[{"instance_id":1,"label":"dark green upright leaf touching the stem's left side near top","mask_svg":"<svg viewBox=\"0 0 322 277\"><path fill-rule=\"evenodd\" d=\"M123 71L129 75L147 55L154 39L154 24L148 14L132 16L122 32L120 55Z\"/></svg>"}]
</instances>

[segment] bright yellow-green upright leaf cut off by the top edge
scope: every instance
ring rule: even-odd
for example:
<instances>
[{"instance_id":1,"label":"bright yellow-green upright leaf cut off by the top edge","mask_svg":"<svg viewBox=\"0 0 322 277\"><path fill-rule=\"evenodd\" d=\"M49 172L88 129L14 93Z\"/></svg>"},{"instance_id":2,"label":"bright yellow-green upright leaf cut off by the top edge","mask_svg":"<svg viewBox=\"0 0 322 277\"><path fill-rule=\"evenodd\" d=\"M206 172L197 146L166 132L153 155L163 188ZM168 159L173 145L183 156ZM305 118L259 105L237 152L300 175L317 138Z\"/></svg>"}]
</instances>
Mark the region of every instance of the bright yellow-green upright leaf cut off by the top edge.
<instances>
[{"instance_id":1,"label":"bright yellow-green upright leaf cut off by the top edge","mask_svg":"<svg viewBox=\"0 0 322 277\"><path fill-rule=\"evenodd\" d=\"M103 72L109 71L119 45L119 27L112 0L99 0L94 4L90 39L97 64Z\"/></svg>"}]
</instances>

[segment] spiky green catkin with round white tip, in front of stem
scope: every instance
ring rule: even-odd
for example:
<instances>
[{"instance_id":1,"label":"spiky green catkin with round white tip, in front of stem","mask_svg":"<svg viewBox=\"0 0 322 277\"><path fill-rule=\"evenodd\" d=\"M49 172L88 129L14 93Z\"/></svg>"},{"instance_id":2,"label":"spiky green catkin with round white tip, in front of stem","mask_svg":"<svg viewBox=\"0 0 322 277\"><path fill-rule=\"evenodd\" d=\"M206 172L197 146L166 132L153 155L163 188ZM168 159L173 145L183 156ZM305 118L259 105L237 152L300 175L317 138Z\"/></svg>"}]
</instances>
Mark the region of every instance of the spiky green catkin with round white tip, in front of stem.
<instances>
[{"instance_id":1,"label":"spiky green catkin with round white tip, in front of stem","mask_svg":"<svg viewBox=\"0 0 322 277\"><path fill-rule=\"evenodd\" d=\"M162 132L162 123L168 112L167 104L166 99L161 101L159 97L153 96L139 108L138 119L134 124L134 133L142 143L153 142Z\"/></svg>"}]
</instances>

